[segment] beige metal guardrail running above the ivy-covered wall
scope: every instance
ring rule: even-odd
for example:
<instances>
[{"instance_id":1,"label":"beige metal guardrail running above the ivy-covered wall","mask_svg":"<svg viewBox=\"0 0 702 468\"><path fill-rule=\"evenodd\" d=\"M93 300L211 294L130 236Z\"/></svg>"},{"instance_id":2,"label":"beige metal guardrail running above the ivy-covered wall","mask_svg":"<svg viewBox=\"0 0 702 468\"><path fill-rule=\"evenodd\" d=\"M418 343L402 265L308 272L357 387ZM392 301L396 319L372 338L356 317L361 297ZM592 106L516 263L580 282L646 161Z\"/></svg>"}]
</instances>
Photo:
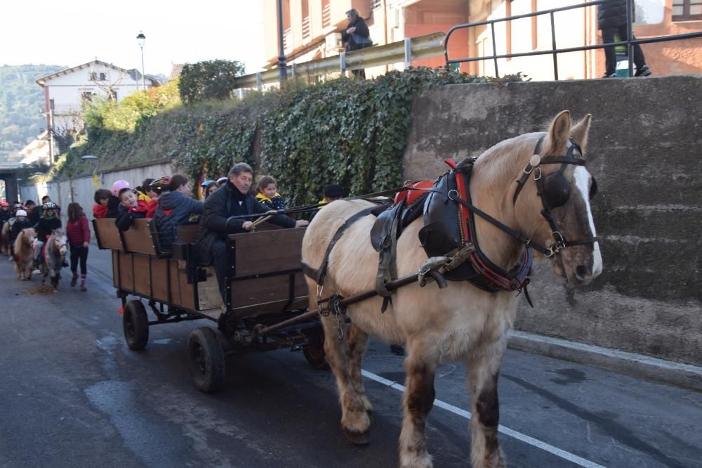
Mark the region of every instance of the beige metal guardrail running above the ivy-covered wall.
<instances>
[{"instance_id":1,"label":"beige metal guardrail running above the ivy-covered wall","mask_svg":"<svg viewBox=\"0 0 702 468\"><path fill-rule=\"evenodd\" d=\"M432 58L444 53L444 39L446 34L435 32L420 37L411 37L403 41L392 42L384 46L363 48L350 53L342 52L338 56L318 58L305 63L296 63L288 67L288 75L293 79L300 77L314 77L323 74L341 72L346 70L359 70L366 67L378 67L404 62L409 66L412 60ZM247 74L234 80L236 89L253 88L259 91L264 84L279 82L279 70L274 68L265 72Z\"/></svg>"}]
</instances>

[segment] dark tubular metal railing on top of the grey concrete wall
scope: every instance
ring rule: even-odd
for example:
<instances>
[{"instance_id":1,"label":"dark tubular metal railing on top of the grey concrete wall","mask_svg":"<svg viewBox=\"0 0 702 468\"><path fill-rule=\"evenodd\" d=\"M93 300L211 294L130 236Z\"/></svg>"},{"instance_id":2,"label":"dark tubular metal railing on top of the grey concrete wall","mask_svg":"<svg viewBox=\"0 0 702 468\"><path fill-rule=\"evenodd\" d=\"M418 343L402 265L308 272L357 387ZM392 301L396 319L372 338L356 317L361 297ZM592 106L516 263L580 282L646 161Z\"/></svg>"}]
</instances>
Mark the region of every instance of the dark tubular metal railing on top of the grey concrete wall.
<instances>
[{"instance_id":1,"label":"dark tubular metal railing on top of the grey concrete wall","mask_svg":"<svg viewBox=\"0 0 702 468\"><path fill-rule=\"evenodd\" d=\"M495 20L470 22L470 23L466 23L464 25L453 26L453 27L451 27L449 32L446 33L446 40L444 41L444 57L446 58L446 67L450 67L452 64L459 64L459 63L466 63L466 62L477 62L479 60L493 60L494 67L495 67L495 76L499 77L500 72L498 69L498 59L500 59L500 58L531 57L531 56L543 56L543 55L551 54L553 56L553 76L554 76L554 79L557 80L558 79L558 54L559 53L588 51L588 50L596 49L596 48L626 46L627 47L628 62L629 62L629 76L632 76L633 71L634 71L634 64L633 64L633 58L634 58L633 55L634 54L632 53L632 48L635 44L649 44L649 43L653 43L653 42L663 42L663 41L678 41L681 39L694 39L696 37L702 37L702 31L700 31L700 32L689 32L687 34L673 34L670 36L648 37L646 39L633 39L632 22L631 22L631 11L632 11L631 6L633 4L633 0L626 0L626 5L627 5L627 15L626 15L626 17L627 17L627 22L626 22L626 24L627 24L627 28L626 28L627 37L626 37L625 41L607 42L604 44L592 44L589 46L557 48L554 14L559 13L560 11L568 11L568 10L574 10L576 8L587 8L588 6L600 5L600 4L604 3L604 1L605 0L588 1L584 4L563 6L561 8L552 8L550 10L534 11L533 13L525 13L524 15L508 16L506 18L497 18ZM508 22L508 21L512 21L512 20L520 20L522 18L534 18L535 16L541 16L541 15L549 15L550 16L550 22L551 22L551 48L550 49L544 50L544 51L531 51L531 52L522 52L522 53L503 53L503 54L496 53L497 46L496 46L496 40L495 40L495 23ZM467 29L470 27L485 26L485 25L489 25L489 27L490 27L493 55L481 56L481 57L453 58L453 59L449 58L449 39L451 39L451 35L453 34L454 31L463 30L463 29Z\"/></svg>"}]
</instances>

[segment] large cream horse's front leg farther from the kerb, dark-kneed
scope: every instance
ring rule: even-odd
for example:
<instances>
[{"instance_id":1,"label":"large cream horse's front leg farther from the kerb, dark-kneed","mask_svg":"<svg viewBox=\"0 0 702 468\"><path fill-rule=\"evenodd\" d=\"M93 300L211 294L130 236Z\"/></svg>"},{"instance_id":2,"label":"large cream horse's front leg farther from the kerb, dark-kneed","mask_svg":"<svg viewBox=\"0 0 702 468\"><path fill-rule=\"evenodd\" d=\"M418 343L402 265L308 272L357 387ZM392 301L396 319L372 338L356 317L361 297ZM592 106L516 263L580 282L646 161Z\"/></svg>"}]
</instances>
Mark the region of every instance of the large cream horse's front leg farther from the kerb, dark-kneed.
<instances>
[{"instance_id":1,"label":"large cream horse's front leg farther from the kerb, dark-kneed","mask_svg":"<svg viewBox=\"0 0 702 468\"><path fill-rule=\"evenodd\" d=\"M434 373L438 359L418 340L407 341L404 417L399 436L399 464L402 468L430 468L425 426L434 405Z\"/></svg>"}]
</instances>

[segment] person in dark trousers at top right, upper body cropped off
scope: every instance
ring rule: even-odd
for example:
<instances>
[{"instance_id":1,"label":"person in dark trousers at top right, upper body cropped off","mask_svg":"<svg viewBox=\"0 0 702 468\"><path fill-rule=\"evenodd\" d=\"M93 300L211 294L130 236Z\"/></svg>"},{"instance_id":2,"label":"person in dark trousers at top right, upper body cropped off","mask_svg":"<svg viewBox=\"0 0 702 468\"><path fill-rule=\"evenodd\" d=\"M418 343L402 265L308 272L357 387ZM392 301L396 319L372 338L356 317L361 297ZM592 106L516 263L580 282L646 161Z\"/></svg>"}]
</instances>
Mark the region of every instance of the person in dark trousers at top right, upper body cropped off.
<instances>
[{"instance_id":1,"label":"person in dark trousers at top right, upper body cropped off","mask_svg":"<svg viewBox=\"0 0 702 468\"><path fill-rule=\"evenodd\" d=\"M602 30L602 43L614 42L614 35L618 34L622 40L626 37L626 1L627 0L605 0L597 5L597 28ZM631 0L631 21L634 22L634 1ZM631 34L631 39L635 39ZM604 48L604 59L607 71L603 78L616 77L616 47ZM647 77L651 70L646 65L644 53L639 44L633 44L634 65L636 65L635 77Z\"/></svg>"}]
</instances>

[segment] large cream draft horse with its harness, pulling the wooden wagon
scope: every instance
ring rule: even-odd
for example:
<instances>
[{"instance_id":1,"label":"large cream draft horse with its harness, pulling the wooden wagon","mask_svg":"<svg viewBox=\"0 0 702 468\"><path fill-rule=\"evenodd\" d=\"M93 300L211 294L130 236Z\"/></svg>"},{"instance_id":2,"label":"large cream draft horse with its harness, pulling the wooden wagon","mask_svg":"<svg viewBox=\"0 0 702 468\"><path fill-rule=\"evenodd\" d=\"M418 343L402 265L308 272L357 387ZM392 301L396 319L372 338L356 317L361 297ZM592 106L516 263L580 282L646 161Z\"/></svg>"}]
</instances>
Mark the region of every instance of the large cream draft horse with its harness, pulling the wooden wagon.
<instances>
[{"instance_id":1,"label":"large cream draft horse with its harness, pulling the wooden wagon","mask_svg":"<svg viewBox=\"0 0 702 468\"><path fill-rule=\"evenodd\" d=\"M371 202L332 202L314 217L303 240L310 309L378 292L377 278L388 271L392 278L412 278L442 265L449 280L423 278L321 314L341 427L352 442L369 441L373 408L362 358L373 334L407 351L399 465L432 467L425 424L435 399L435 372L447 360L461 360L472 394L471 466L505 467L498 441L498 373L518 292L529 298L532 259L552 259L554 270L573 285L587 285L602 272L590 210L596 185L585 169L589 127L590 115L572 126L563 111L546 132L510 138L476 160L451 162L451 171L425 189L423 212L396 238L393 268L383 274L371 242L376 223Z\"/></svg>"}]
</instances>

